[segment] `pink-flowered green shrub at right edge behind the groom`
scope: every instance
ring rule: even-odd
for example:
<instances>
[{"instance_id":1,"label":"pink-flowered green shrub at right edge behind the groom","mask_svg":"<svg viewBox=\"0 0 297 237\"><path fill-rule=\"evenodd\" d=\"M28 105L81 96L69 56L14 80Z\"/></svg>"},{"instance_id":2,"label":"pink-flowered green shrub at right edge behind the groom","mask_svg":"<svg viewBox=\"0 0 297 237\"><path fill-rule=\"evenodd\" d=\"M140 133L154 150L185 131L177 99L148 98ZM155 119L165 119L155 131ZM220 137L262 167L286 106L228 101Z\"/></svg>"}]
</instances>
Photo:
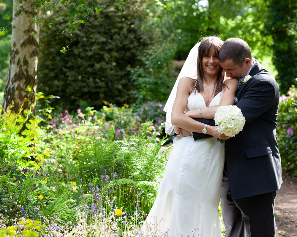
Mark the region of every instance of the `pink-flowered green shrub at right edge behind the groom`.
<instances>
[{"instance_id":1,"label":"pink-flowered green shrub at right edge behind the groom","mask_svg":"<svg viewBox=\"0 0 297 237\"><path fill-rule=\"evenodd\" d=\"M297 176L297 89L291 87L282 95L277 119L277 136L282 168L287 174Z\"/></svg>"}]
</instances>

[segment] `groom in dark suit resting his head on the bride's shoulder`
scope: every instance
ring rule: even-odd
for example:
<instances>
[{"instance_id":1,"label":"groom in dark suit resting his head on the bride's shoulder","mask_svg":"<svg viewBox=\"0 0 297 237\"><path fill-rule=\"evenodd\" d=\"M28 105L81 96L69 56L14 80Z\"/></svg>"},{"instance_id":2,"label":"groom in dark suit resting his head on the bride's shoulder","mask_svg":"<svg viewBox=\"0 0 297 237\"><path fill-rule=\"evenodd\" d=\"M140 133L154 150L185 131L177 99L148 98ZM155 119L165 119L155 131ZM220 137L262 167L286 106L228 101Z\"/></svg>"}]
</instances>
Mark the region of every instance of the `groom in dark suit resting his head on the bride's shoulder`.
<instances>
[{"instance_id":1,"label":"groom in dark suit resting his head on the bride's shoulder","mask_svg":"<svg viewBox=\"0 0 297 237\"><path fill-rule=\"evenodd\" d=\"M243 130L225 141L221 191L225 236L275 236L274 198L282 184L276 137L278 86L271 74L252 58L249 45L242 39L224 42L219 50L219 63L226 76L239 81L234 104L246 119ZM247 75L251 78L242 83ZM214 127L208 125L207 129ZM193 132L195 140L202 136Z\"/></svg>"}]
</instances>

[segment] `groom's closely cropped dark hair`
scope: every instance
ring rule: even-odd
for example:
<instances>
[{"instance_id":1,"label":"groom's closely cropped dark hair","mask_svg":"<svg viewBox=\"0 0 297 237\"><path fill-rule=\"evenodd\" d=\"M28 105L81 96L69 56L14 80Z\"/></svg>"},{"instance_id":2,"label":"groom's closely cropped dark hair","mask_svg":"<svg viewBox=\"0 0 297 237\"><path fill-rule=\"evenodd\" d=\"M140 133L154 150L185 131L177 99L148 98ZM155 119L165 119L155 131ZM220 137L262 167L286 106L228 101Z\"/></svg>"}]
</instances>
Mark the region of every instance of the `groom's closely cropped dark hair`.
<instances>
[{"instance_id":1,"label":"groom's closely cropped dark hair","mask_svg":"<svg viewBox=\"0 0 297 237\"><path fill-rule=\"evenodd\" d=\"M243 65L244 59L252 60L251 50L246 41L239 38L227 39L219 50L219 62L232 59L234 64Z\"/></svg>"}]
</instances>

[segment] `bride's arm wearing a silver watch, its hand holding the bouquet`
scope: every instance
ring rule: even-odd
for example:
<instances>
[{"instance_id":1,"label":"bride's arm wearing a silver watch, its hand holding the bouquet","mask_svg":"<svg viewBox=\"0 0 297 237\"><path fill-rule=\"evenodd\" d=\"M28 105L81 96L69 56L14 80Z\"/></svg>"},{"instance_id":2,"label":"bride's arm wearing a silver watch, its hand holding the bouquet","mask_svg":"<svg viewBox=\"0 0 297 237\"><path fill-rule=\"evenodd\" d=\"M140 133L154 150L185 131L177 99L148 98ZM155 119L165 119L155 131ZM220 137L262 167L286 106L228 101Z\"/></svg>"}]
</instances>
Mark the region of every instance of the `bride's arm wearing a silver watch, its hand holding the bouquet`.
<instances>
[{"instance_id":1,"label":"bride's arm wearing a silver watch, its hand holding the bouquet","mask_svg":"<svg viewBox=\"0 0 297 237\"><path fill-rule=\"evenodd\" d=\"M176 99L172 107L171 123L174 126L181 127L188 131L202 133L202 130L204 129L205 124L195 121L194 119L184 114L184 111L187 107L189 94L192 91L192 86L193 86L192 79L184 77L179 81L177 92L176 92ZM212 126L209 126L209 127L212 127ZM216 127L207 129L207 134L210 134L214 137L218 137L220 139L229 138L224 134L220 134L217 131Z\"/></svg>"}]
</instances>

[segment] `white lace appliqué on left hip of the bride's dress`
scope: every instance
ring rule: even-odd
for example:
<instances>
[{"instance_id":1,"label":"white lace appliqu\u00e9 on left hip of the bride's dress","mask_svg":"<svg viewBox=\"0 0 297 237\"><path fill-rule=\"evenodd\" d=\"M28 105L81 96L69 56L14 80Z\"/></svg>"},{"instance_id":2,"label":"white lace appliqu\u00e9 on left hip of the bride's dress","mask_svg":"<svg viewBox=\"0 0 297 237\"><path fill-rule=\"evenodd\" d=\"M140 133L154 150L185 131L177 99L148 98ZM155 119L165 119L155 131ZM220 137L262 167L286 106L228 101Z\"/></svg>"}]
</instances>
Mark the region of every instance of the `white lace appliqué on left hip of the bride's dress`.
<instances>
[{"instance_id":1,"label":"white lace appliqu\u00e9 on left hip of the bride's dress","mask_svg":"<svg viewBox=\"0 0 297 237\"><path fill-rule=\"evenodd\" d=\"M192 136L184 137L181 140L178 140L178 147L183 147L183 150L185 151L184 153L181 153L178 163L174 163L178 167L179 179L182 179L184 177L184 168L188 159L192 159L195 156L195 140Z\"/></svg>"}]
</instances>

